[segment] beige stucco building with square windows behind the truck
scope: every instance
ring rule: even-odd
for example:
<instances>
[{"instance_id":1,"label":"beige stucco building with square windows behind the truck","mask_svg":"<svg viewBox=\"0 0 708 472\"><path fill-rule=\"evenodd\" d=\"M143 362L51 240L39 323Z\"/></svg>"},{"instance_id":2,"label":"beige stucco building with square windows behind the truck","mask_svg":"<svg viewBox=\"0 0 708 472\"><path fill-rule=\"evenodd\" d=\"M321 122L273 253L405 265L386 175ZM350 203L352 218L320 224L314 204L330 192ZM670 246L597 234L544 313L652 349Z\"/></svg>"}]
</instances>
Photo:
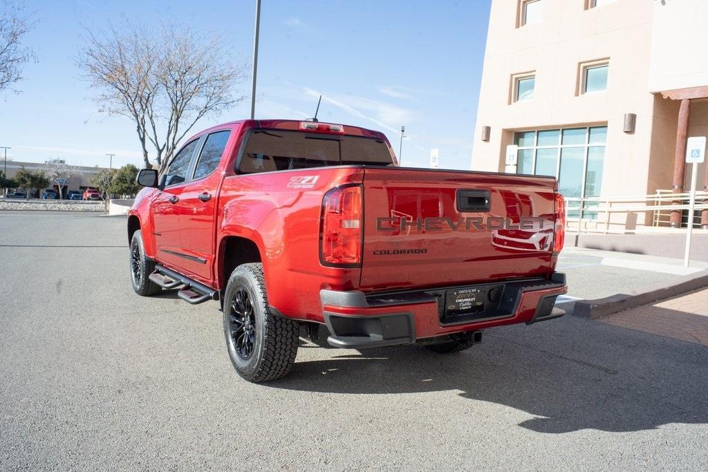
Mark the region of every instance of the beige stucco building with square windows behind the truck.
<instances>
[{"instance_id":1,"label":"beige stucco building with square windows behind the truck","mask_svg":"<svg viewBox=\"0 0 708 472\"><path fill-rule=\"evenodd\" d=\"M566 197L687 188L707 23L706 0L492 0L472 169L556 175Z\"/></svg>"}]
</instances>

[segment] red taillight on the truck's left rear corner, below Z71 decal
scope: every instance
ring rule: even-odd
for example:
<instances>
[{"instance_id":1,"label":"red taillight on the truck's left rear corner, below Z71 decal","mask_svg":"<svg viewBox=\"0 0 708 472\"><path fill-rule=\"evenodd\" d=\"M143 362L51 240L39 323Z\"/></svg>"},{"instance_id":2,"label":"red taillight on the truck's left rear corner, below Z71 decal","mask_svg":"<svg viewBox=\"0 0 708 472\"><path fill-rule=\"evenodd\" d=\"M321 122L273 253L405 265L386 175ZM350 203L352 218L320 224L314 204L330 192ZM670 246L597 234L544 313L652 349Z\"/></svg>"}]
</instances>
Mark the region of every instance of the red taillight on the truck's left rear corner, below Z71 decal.
<instances>
[{"instance_id":1,"label":"red taillight on the truck's left rear corner, below Z71 decal","mask_svg":"<svg viewBox=\"0 0 708 472\"><path fill-rule=\"evenodd\" d=\"M336 187L324 195L319 233L319 257L323 265L361 264L362 213L360 185Z\"/></svg>"}]
</instances>

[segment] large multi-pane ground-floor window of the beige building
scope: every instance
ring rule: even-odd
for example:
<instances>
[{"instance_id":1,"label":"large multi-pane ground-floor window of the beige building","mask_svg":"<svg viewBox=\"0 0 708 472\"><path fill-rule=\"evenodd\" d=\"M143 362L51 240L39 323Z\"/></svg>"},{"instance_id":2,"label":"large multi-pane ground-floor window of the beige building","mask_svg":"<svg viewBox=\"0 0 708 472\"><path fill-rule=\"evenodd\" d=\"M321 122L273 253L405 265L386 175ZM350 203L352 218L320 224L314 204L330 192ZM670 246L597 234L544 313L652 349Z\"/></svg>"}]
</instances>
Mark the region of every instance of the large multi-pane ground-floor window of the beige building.
<instances>
[{"instance_id":1,"label":"large multi-pane ground-floor window of the beige building","mask_svg":"<svg viewBox=\"0 0 708 472\"><path fill-rule=\"evenodd\" d=\"M603 183L607 126L539 129L514 134L516 172L553 175L566 198L599 197ZM586 203L583 218L595 219L597 207ZM569 217L578 217L579 202L568 202Z\"/></svg>"}]
</instances>

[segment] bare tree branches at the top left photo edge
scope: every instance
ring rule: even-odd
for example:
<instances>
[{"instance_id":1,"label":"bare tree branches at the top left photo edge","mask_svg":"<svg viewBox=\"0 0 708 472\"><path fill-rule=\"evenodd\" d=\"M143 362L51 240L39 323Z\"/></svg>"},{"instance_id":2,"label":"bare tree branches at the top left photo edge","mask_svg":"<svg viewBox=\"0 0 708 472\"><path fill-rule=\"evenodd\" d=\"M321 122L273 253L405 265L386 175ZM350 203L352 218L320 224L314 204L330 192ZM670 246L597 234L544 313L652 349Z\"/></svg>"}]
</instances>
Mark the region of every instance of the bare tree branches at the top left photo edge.
<instances>
[{"instance_id":1,"label":"bare tree branches at the top left photo edge","mask_svg":"<svg viewBox=\"0 0 708 472\"><path fill-rule=\"evenodd\" d=\"M22 79L22 67L34 57L22 40L32 27L23 3L4 0L0 4L0 91Z\"/></svg>"}]
</instances>

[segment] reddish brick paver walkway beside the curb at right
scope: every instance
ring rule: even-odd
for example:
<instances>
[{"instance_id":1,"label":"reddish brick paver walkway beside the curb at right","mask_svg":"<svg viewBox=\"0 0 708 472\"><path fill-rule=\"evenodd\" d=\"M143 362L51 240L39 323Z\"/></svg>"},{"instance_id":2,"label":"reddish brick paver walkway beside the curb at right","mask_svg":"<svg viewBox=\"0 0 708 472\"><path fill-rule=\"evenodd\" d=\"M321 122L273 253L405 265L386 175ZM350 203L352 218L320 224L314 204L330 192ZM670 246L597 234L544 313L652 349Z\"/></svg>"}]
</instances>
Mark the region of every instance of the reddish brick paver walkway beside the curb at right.
<instances>
[{"instance_id":1,"label":"reddish brick paver walkway beside the curb at right","mask_svg":"<svg viewBox=\"0 0 708 472\"><path fill-rule=\"evenodd\" d=\"M598 321L708 346L708 289L639 306Z\"/></svg>"}]
</instances>

